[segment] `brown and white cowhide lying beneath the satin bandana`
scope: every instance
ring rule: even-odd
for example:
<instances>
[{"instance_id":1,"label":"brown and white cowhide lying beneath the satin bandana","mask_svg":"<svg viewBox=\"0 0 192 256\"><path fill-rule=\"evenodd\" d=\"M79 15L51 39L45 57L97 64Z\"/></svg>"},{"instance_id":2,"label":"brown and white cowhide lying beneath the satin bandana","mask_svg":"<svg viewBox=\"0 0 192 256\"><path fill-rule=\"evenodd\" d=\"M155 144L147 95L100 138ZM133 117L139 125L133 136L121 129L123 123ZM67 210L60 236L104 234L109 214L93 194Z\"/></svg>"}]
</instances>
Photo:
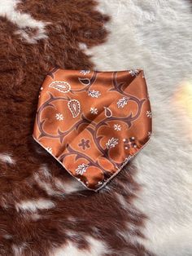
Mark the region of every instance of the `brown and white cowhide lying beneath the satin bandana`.
<instances>
[{"instance_id":1,"label":"brown and white cowhide lying beneath the satin bandana","mask_svg":"<svg viewBox=\"0 0 192 256\"><path fill-rule=\"evenodd\" d=\"M187 0L2 0L0 255L192 255L192 40ZM89 192L32 137L53 66L143 68L151 142Z\"/></svg>"}]
</instances>

